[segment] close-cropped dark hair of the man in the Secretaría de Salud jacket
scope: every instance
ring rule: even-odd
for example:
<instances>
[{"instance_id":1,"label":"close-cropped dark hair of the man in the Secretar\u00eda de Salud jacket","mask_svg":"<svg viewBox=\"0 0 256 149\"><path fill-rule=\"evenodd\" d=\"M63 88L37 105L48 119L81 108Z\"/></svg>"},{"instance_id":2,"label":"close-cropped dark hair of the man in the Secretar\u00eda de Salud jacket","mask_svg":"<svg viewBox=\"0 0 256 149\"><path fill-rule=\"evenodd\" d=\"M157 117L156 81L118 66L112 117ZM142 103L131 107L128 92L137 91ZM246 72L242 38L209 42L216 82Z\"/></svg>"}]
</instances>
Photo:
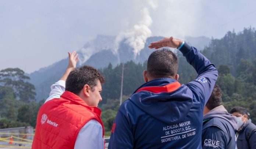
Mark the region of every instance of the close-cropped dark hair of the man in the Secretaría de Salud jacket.
<instances>
[{"instance_id":1,"label":"close-cropped dark hair of the man in the Secretar\u00eda de Salud jacket","mask_svg":"<svg viewBox=\"0 0 256 149\"><path fill-rule=\"evenodd\" d=\"M171 50L156 50L152 52L147 59L147 73L154 79L174 77L177 71L178 58Z\"/></svg>"}]
</instances>

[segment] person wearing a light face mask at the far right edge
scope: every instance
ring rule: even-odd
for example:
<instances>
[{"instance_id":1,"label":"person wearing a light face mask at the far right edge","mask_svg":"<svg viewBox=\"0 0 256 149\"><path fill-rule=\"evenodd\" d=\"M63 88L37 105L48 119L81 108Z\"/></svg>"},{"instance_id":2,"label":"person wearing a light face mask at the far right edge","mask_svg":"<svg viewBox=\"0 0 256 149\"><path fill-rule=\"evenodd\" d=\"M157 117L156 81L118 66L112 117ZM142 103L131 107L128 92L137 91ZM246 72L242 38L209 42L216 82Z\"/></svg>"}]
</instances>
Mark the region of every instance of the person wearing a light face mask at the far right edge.
<instances>
[{"instance_id":1,"label":"person wearing a light face mask at the far right edge","mask_svg":"<svg viewBox=\"0 0 256 149\"><path fill-rule=\"evenodd\" d=\"M237 149L256 149L256 126L249 119L250 113L239 106L232 108L230 113L237 117L239 127L236 133Z\"/></svg>"}]
</instances>

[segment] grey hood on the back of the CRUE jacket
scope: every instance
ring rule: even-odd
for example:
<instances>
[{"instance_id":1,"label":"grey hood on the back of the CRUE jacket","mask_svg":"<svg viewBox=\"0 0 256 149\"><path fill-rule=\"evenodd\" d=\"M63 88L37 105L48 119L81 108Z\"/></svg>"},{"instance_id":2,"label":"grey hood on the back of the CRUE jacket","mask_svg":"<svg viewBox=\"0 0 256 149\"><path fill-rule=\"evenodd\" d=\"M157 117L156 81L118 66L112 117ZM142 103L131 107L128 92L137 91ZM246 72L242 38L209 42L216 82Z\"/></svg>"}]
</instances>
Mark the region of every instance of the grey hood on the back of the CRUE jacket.
<instances>
[{"instance_id":1,"label":"grey hood on the back of the CRUE jacket","mask_svg":"<svg viewBox=\"0 0 256 149\"><path fill-rule=\"evenodd\" d=\"M223 105L217 106L216 108L210 110L208 113L206 113L205 116L203 116L203 120L205 121L213 117L219 117L221 119L228 121L234 128L234 130L238 130L237 118L228 113L228 111L225 109Z\"/></svg>"}]
</instances>

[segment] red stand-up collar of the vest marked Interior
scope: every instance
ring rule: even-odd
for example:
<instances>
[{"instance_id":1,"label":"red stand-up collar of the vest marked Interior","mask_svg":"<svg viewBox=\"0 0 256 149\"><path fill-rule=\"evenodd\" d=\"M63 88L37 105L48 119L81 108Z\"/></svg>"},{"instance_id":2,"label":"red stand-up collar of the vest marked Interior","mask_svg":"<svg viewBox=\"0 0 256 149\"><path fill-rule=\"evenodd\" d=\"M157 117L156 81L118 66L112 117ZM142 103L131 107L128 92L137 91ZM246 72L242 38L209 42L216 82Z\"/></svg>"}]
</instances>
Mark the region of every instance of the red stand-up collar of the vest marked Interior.
<instances>
[{"instance_id":1,"label":"red stand-up collar of the vest marked Interior","mask_svg":"<svg viewBox=\"0 0 256 149\"><path fill-rule=\"evenodd\" d=\"M95 106L88 106L85 101L83 101L82 98L80 98L78 95L70 92L70 91L65 91L63 94L60 96L61 98L76 102L77 104L84 106L86 109L91 110L92 112L96 113L97 115L100 116L101 110L100 108L97 108Z\"/></svg>"}]
</instances>

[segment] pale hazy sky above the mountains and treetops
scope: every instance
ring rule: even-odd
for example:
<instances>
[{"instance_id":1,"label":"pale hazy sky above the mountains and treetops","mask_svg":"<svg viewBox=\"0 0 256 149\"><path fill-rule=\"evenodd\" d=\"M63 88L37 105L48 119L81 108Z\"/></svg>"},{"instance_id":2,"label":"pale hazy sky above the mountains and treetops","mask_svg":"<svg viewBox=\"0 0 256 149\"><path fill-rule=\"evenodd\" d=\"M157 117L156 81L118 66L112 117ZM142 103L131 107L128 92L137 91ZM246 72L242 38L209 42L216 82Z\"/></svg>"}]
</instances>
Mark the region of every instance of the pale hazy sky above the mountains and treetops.
<instances>
[{"instance_id":1,"label":"pale hazy sky above the mountains and treetops","mask_svg":"<svg viewBox=\"0 0 256 149\"><path fill-rule=\"evenodd\" d=\"M0 0L0 70L31 73L97 34L131 36L134 45L136 36L221 38L256 27L255 6L255 0Z\"/></svg>"}]
</instances>

